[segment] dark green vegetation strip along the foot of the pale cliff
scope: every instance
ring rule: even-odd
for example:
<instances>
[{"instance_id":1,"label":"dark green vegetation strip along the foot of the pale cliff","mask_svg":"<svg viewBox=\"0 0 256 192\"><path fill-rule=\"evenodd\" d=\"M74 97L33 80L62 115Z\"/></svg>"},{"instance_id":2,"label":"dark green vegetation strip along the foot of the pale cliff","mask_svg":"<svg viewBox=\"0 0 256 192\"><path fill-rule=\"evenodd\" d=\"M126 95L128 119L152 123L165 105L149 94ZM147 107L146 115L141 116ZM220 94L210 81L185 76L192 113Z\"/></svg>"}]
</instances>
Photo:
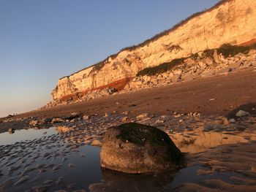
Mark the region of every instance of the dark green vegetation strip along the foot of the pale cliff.
<instances>
[{"instance_id":1,"label":"dark green vegetation strip along the foot of the pale cliff","mask_svg":"<svg viewBox=\"0 0 256 192\"><path fill-rule=\"evenodd\" d=\"M227 57L233 57L234 55L237 55L238 53L247 54L247 53L249 53L249 50L256 50L256 44L250 45L250 46L237 46L237 45L225 44L217 49L204 50L201 58L206 58L206 57L213 58L214 50L217 50L218 55L222 54L225 58L227 58ZM199 55L197 53L195 53L193 55L190 55L187 58L195 59L198 57L199 57ZM156 74L161 74L161 73L170 71L171 69L173 69L174 66L183 64L185 59L186 58L176 58L176 59L173 59L173 61L159 64L158 66L153 66L153 67L148 67L148 68L142 69L136 74L136 76L137 77L144 76L144 75L153 76Z\"/></svg>"}]
</instances>

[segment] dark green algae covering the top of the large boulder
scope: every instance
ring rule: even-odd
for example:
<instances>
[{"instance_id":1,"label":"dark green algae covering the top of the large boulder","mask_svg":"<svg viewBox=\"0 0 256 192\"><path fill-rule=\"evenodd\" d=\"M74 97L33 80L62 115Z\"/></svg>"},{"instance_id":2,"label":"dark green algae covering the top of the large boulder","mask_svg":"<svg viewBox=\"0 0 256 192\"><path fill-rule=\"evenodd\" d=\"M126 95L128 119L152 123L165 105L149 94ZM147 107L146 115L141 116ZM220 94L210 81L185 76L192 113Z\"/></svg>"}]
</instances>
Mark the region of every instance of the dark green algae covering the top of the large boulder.
<instances>
[{"instance_id":1,"label":"dark green algae covering the top of the large boulder","mask_svg":"<svg viewBox=\"0 0 256 192\"><path fill-rule=\"evenodd\" d=\"M116 128L121 131L116 139L121 139L123 142L128 141L137 146L145 146L146 143L157 145L166 150L166 154L163 155L167 161L173 161L177 166L185 165L184 155L170 137L159 128L140 123L124 123Z\"/></svg>"}]
</instances>

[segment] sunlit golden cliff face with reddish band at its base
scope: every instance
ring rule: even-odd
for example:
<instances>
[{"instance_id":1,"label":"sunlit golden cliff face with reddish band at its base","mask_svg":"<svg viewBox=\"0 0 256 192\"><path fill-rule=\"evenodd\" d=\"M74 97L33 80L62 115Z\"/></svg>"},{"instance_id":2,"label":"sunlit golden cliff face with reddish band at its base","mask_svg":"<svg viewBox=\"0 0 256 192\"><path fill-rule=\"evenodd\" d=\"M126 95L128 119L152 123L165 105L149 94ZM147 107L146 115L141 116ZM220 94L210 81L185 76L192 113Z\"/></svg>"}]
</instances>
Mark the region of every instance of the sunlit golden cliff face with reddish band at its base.
<instances>
[{"instance_id":1,"label":"sunlit golden cliff face with reddish band at its base","mask_svg":"<svg viewBox=\"0 0 256 192\"><path fill-rule=\"evenodd\" d=\"M223 1L151 41L61 78L52 92L53 101L67 100L106 87L121 90L146 67L185 58L223 44L247 45L256 42L255 20L255 0Z\"/></svg>"}]
</instances>

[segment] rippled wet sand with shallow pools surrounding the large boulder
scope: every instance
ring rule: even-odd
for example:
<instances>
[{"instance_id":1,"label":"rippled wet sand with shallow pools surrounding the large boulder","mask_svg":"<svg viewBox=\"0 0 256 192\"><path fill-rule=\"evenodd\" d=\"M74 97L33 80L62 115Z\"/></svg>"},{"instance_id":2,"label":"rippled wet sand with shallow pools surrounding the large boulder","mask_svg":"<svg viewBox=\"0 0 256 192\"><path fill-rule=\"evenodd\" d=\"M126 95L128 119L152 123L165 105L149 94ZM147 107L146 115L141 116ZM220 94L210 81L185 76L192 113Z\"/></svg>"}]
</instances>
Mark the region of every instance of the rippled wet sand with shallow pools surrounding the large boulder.
<instances>
[{"instance_id":1,"label":"rippled wet sand with shallow pools surrounding the large boulder","mask_svg":"<svg viewBox=\"0 0 256 192\"><path fill-rule=\"evenodd\" d=\"M161 128L186 154L186 168L162 174L100 168L100 147L91 144L100 145L105 130L122 118L0 134L0 139L14 139L0 145L0 191L256 191L255 117L227 125L222 117L127 118Z\"/></svg>"}]
</instances>

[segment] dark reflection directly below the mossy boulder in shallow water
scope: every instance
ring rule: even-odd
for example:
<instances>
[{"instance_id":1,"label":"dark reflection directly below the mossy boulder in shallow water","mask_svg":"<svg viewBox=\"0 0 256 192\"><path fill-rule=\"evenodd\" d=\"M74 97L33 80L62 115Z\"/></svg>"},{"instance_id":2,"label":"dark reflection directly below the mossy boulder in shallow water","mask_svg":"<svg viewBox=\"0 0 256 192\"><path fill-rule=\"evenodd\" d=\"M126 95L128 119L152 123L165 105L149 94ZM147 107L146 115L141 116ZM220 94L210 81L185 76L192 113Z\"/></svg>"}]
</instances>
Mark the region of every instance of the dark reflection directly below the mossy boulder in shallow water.
<instances>
[{"instance_id":1,"label":"dark reflection directly below the mossy boulder in shallow water","mask_svg":"<svg viewBox=\"0 0 256 192\"><path fill-rule=\"evenodd\" d=\"M165 186L173 181L175 173L162 174L124 174L107 169L102 170L104 182L89 186L91 192L97 191L170 191Z\"/></svg>"}]
</instances>

